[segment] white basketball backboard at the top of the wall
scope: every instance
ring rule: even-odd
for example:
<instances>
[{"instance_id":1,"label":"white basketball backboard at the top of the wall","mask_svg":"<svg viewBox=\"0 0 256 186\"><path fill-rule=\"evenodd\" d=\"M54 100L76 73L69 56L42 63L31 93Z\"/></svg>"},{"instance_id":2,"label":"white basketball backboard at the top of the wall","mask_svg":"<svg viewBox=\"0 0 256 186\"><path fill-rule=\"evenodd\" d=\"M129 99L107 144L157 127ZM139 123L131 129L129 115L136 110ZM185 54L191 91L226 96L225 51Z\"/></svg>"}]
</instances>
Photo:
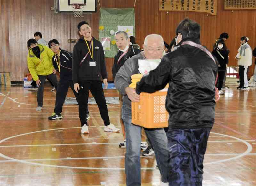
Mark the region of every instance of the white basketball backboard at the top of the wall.
<instances>
[{"instance_id":1,"label":"white basketball backboard at the top of the wall","mask_svg":"<svg viewBox=\"0 0 256 186\"><path fill-rule=\"evenodd\" d=\"M71 4L86 4L83 13L92 13L97 11L97 0L55 0L56 13L73 13L74 8Z\"/></svg>"}]
</instances>

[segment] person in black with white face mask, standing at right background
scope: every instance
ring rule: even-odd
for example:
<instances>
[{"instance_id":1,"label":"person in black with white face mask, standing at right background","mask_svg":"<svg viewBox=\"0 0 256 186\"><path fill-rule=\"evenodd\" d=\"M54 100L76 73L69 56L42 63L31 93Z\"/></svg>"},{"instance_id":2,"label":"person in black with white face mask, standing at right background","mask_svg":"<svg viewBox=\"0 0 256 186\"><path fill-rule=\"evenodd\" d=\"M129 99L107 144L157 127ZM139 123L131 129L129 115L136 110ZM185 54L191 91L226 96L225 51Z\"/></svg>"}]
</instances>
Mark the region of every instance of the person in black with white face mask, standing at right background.
<instances>
[{"instance_id":1,"label":"person in black with white face mask, standing at right background","mask_svg":"<svg viewBox=\"0 0 256 186\"><path fill-rule=\"evenodd\" d=\"M228 64L228 51L224 48L224 40L219 39L216 41L216 47L213 49L212 54L217 58L218 60L218 90L219 94L224 94L224 92L221 90L223 85L223 80L225 77L225 73L227 70L227 64Z\"/></svg>"}]
</instances>

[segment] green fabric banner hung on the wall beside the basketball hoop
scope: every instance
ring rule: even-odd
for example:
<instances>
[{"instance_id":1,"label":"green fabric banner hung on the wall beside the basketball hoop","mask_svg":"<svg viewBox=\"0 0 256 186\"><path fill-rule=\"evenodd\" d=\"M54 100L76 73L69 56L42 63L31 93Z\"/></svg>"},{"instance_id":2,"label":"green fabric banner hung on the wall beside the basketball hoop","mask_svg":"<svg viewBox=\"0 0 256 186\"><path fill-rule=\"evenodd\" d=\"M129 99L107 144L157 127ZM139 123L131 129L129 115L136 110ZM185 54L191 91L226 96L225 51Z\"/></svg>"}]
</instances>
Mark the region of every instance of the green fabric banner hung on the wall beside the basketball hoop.
<instances>
[{"instance_id":1,"label":"green fabric banner hung on the wall beside the basketball hoop","mask_svg":"<svg viewBox=\"0 0 256 186\"><path fill-rule=\"evenodd\" d=\"M132 33L135 37L134 8L100 8L99 40L101 43L103 43L104 40L108 41L109 43L110 38L110 50L104 49L105 57L107 58L113 58L117 54L118 48L116 47L116 44L112 43L112 41L115 41L115 34L113 34L113 31L115 33L117 31L122 31L120 27L118 30L118 26L130 26L129 28L131 28L132 26ZM127 28L125 29L125 31L126 30L127 32L131 31L131 29ZM110 33L110 31L112 31L112 33ZM109 48L107 47L106 49Z\"/></svg>"}]
</instances>

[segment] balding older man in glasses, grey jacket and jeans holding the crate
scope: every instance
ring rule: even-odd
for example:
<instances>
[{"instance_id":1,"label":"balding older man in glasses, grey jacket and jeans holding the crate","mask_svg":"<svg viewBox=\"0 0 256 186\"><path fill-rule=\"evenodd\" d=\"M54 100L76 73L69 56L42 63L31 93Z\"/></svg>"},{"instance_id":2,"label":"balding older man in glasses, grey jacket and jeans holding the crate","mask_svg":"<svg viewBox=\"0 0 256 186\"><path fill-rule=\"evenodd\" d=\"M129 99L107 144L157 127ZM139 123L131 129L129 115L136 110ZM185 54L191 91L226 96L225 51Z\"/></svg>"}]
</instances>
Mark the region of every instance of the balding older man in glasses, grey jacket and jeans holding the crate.
<instances>
[{"instance_id":1,"label":"balding older man in glasses, grey jacket and jeans holding the crate","mask_svg":"<svg viewBox=\"0 0 256 186\"><path fill-rule=\"evenodd\" d=\"M123 94L122 119L126 130L125 173L127 186L140 186L140 141L142 127L132 124L131 101L139 102L140 96L130 88L131 75L139 73L139 59L161 59L164 51L164 40L161 35L151 34L144 40L144 51L125 61L116 74L114 83ZM156 162L162 176L162 182L168 182L167 136L163 128L144 128L152 142Z\"/></svg>"}]
</instances>

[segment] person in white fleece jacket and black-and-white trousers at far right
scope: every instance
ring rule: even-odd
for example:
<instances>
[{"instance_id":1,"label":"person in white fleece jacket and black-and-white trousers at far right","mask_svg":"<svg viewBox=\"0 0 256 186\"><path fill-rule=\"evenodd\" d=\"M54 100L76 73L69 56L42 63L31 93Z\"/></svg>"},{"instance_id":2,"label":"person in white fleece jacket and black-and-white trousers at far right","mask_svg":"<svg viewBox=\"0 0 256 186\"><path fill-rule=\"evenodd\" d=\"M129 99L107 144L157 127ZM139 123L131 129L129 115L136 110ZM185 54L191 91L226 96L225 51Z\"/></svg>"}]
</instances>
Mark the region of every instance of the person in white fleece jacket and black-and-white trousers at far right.
<instances>
[{"instance_id":1,"label":"person in white fleece jacket and black-and-white trousers at far right","mask_svg":"<svg viewBox=\"0 0 256 186\"><path fill-rule=\"evenodd\" d=\"M249 38L246 36L241 37L241 46L236 54L239 66L239 81L240 85L237 89L248 89L247 70L248 66L252 65L252 49L247 43Z\"/></svg>"}]
</instances>

